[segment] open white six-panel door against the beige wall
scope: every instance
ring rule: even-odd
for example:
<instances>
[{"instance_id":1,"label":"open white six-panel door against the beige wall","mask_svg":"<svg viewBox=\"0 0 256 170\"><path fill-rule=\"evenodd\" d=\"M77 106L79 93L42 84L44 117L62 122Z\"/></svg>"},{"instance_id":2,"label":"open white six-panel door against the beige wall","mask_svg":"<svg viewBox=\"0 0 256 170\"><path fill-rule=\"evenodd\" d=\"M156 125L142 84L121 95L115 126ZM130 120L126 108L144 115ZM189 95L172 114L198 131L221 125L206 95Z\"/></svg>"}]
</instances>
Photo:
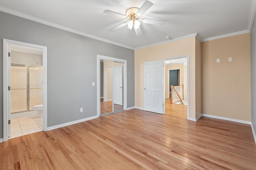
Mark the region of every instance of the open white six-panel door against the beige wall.
<instances>
[{"instance_id":1,"label":"open white six-panel door against the beige wall","mask_svg":"<svg viewBox=\"0 0 256 170\"><path fill-rule=\"evenodd\" d=\"M144 62L144 110L163 114L163 63Z\"/></svg>"}]
</instances>

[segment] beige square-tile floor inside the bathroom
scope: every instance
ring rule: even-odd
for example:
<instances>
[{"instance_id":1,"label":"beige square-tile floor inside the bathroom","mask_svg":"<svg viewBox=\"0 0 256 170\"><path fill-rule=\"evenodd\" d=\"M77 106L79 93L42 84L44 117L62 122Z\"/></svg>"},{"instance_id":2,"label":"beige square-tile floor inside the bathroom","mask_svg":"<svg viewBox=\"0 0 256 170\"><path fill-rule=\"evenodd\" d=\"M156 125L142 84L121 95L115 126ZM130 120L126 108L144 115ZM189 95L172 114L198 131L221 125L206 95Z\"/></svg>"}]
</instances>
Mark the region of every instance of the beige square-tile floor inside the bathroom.
<instances>
[{"instance_id":1,"label":"beige square-tile floor inside the bathroom","mask_svg":"<svg viewBox=\"0 0 256 170\"><path fill-rule=\"evenodd\" d=\"M11 135L9 139L43 130L43 118L38 115L11 119Z\"/></svg>"}]
</instances>

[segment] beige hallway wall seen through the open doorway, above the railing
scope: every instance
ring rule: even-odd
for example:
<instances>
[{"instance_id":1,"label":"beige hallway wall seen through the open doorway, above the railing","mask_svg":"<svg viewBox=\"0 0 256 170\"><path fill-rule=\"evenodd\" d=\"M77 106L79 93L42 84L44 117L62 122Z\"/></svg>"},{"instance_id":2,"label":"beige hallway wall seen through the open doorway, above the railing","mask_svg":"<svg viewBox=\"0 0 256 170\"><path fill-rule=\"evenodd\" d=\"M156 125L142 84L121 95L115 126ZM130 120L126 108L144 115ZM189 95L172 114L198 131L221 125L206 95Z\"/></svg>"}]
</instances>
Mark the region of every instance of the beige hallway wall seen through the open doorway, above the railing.
<instances>
[{"instance_id":1,"label":"beige hallway wall seen through the open doorway, above the railing","mask_svg":"<svg viewBox=\"0 0 256 170\"><path fill-rule=\"evenodd\" d=\"M164 86L165 86L164 96L165 98L168 98L168 92L170 87L170 85L168 86L168 82L169 82L168 70L175 70L175 69L180 69L180 86L184 84L184 100L187 100L187 85L186 85L187 84L187 66L184 64L171 65L171 66L166 65L164 67L164 72L165 72L164 73Z\"/></svg>"}]
</instances>

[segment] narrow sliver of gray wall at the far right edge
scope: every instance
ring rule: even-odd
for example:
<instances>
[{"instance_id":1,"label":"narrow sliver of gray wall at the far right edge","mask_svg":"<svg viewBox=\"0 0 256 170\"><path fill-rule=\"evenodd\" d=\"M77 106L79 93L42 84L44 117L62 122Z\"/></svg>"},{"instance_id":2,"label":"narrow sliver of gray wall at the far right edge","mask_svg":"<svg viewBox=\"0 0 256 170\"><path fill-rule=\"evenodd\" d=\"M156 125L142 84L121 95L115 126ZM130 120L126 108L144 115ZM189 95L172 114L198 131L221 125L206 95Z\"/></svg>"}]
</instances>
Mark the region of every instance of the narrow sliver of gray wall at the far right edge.
<instances>
[{"instance_id":1,"label":"narrow sliver of gray wall at the far right edge","mask_svg":"<svg viewBox=\"0 0 256 170\"><path fill-rule=\"evenodd\" d=\"M252 125L256 132L256 16L251 29ZM255 141L256 142L256 141Z\"/></svg>"}]
</instances>

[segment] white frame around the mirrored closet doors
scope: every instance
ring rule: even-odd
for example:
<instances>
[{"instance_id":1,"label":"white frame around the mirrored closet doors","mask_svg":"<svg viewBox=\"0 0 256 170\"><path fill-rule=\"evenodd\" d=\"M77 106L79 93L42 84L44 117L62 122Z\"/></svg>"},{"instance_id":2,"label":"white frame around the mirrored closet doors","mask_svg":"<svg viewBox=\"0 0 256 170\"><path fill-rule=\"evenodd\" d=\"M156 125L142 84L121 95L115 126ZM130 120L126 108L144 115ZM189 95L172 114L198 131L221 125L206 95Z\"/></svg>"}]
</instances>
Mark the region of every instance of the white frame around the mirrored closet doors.
<instances>
[{"instance_id":1,"label":"white frame around the mirrored closet doors","mask_svg":"<svg viewBox=\"0 0 256 170\"><path fill-rule=\"evenodd\" d=\"M97 117L100 117L100 60L123 63L123 104L124 110L127 110L127 60L118 59L103 55L97 55Z\"/></svg>"}]
</instances>

